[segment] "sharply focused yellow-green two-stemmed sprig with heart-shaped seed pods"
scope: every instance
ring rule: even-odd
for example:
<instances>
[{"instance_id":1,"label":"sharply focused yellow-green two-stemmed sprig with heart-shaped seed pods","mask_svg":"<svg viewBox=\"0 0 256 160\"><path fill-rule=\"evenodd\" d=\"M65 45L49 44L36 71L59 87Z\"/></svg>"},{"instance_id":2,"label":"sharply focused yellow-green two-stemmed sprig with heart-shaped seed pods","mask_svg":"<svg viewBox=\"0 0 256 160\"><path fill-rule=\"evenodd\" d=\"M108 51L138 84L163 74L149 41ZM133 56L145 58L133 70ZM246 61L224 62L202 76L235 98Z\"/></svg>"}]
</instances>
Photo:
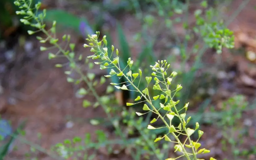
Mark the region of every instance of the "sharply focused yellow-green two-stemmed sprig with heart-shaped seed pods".
<instances>
[{"instance_id":1,"label":"sharply focused yellow-green two-stemmed sprig with heart-shaped seed pods","mask_svg":"<svg viewBox=\"0 0 256 160\"><path fill-rule=\"evenodd\" d=\"M169 87L170 87L170 84L172 83L173 78L177 76L177 73L173 72L172 74L167 76L166 71L168 70L170 64L168 64L166 60L158 61L155 63L154 66L151 66L152 71L153 71L152 76L154 76L154 80L155 80L153 89L160 90L162 92L161 95L153 95L153 97L152 97L150 95L150 93L148 92L148 85L144 90L140 90L134 84L134 80L138 76L140 76L140 78L142 77L142 71L139 69L138 73L132 73L131 68L133 65L133 60L131 60L131 58L129 58L127 60L127 65L125 66L125 68L129 67L130 70L127 73L123 73L124 70L122 68L120 68L120 65L119 65L118 50L116 49L116 57L112 58L112 57L109 57L109 55L108 55L108 48L106 48L108 42L106 41L106 36L103 36L103 39L101 41L98 41L99 32L96 32L96 34L94 34L94 35L88 35L88 37L89 38L87 38L87 40L90 43L84 44L84 47L85 48L91 47L90 51L94 53L93 55L88 56L88 58L92 58L95 60L101 59L102 61L104 61L105 62L104 65L100 65L101 70L104 70L107 67L112 67L112 70L109 73L109 75L105 75L105 77L112 77L112 76L124 77L126 79L126 82L128 82L129 85L131 84L135 88L136 92L138 92L141 95L141 97L144 98L144 100L147 102L147 104L150 105L150 107L147 106L146 104L143 105L143 110L147 111L145 113L148 113L150 111L156 113L158 115L158 118L160 118L162 120L162 122L165 124L164 127L159 127L159 128L168 128L169 133L171 133L176 140L176 141L171 141L168 138L168 136L167 136L168 133L167 133L163 137L157 138L155 140L155 142L165 139L165 141L177 143L175 145L175 151L180 151L181 153L183 153L182 156L185 156L187 159L197 159L197 154L210 152L209 150L206 150L205 148L198 150L199 147L201 146L201 144L198 143L198 140L203 135L203 131L201 131L201 130L198 131L199 138L196 142L192 141L190 138L190 136L199 128L199 124L196 123L195 129L187 128L186 125L190 121L191 117L185 119L186 113L180 113L178 111L178 109L176 108L176 105L179 103L179 101L175 102L173 100L173 96L171 95L172 91L170 90ZM103 44L102 44L102 41L103 41ZM112 53L114 52L114 50L115 50L114 46L112 45ZM101 62L95 62L95 64L101 64ZM114 68L113 68L113 66L114 66ZM146 79L147 83L150 84L153 77L145 77L145 79ZM114 85L117 89L129 90L127 88L127 85L125 85L125 84L122 84L121 86L119 86L120 84L112 83L112 85ZM177 87L175 89L175 93L181 89L182 89L182 86L177 85ZM141 97L138 96L135 99L135 101L140 100ZM157 107L154 106L152 103L153 100L157 100L158 98L165 99L164 104L160 103L160 109L166 110L168 112L166 114L166 117L169 119L169 124L164 119L164 117L161 115L161 113L159 112L160 109L157 109ZM144 102L144 101L140 101L138 103L141 103L141 102ZM131 105L138 104L138 103L126 103L126 105L131 106ZM167 105L165 105L166 103L167 103ZM187 110L187 107L188 107L188 103L183 107L185 109L185 111ZM136 112L136 114L138 116L142 116L145 113ZM174 117L178 117L180 120L180 125L178 127L175 127L174 125L172 125L172 120ZM153 121L151 121L151 123L154 123L156 121L157 121L157 119L154 119ZM148 129L159 129L159 128L153 127L152 125L148 125L147 128ZM183 131L185 133L182 133ZM177 136L177 134L178 135L180 135L180 134L186 135L187 136L186 140L182 143L181 140L179 139L179 136ZM187 140L188 140L188 144L186 144ZM192 150L191 153L188 151L189 148ZM182 157L182 156L180 156L180 157ZM191 157L191 156L193 156L193 157ZM177 157L177 158L179 158L179 157ZM168 159L177 159L177 158L168 158ZM211 158L211 159L214 159L214 158Z\"/></svg>"}]
</instances>

